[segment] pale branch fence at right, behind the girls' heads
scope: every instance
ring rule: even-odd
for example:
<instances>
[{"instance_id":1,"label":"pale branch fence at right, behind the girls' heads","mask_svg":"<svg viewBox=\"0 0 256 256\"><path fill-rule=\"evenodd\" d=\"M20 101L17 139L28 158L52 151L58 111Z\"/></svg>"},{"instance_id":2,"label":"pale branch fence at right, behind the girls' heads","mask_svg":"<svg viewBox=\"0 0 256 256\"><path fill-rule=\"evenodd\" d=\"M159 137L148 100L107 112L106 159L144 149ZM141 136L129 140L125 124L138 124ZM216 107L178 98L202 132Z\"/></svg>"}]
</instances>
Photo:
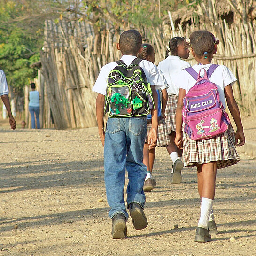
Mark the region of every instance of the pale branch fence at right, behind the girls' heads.
<instances>
[{"instance_id":1,"label":"pale branch fence at right, behind the girls' heads","mask_svg":"<svg viewBox=\"0 0 256 256\"><path fill-rule=\"evenodd\" d=\"M256 21L229 26L225 20L218 20L217 23L186 25L185 29L178 26L170 31L169 37L189 37L196 30L210 31L220 40L212 62L225 65L233 72L238 80L233 92L240 111L246 116L256 116ZM168 39L158 30L153 43L157 49L156 61L160 61ZM188 62L196 63L192 58Z\"/></svg>"}]
</instances>

